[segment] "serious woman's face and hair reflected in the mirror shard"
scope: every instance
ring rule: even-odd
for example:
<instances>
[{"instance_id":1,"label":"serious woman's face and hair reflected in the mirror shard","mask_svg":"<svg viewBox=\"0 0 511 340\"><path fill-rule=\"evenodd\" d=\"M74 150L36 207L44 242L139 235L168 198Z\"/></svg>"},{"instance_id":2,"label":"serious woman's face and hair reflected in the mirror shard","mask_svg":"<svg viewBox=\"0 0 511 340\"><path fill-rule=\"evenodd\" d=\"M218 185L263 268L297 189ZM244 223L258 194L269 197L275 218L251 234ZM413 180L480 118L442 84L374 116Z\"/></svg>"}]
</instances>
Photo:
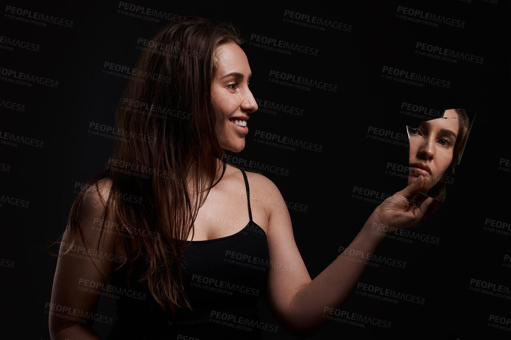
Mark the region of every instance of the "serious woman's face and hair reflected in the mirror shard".
<instances>
[{"instance_id":1,"label":"serious woman's face and hair reflected in the mirror shard","mask_svg":"<svg viewBox=\"0 0 511 340\"><path fill-rule=\"evenodd\" d=\"M421 192L439 201L445 200L446 175L454 174L470 132L467 112L445 110L442 118L422 122L408 128L410 158L408 185L420 175L426 178Z\"/></svg>"}]
</instances>

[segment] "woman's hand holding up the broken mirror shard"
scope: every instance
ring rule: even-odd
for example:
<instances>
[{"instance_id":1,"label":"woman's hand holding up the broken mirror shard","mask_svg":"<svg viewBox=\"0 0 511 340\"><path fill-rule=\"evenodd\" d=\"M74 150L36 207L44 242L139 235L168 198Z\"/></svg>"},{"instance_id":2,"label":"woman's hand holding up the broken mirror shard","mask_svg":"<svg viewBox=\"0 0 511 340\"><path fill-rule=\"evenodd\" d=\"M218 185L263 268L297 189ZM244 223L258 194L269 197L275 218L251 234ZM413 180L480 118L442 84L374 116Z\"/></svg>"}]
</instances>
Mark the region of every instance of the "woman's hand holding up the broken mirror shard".
<instances>
[{"instance_id":1,"label":"woman's hand holding up the broken mirror shard","mask_svg":"<svg viewBox=\"0 0 511 340\"><path fill-rule=\"evenodd\" d=\"M426 179L419 176L405 189L384 200L371 214L364 229L389 233L394 230L421 225L438 208L431 197L418 193L426 192ZM411 198L411 202L408 200Z\"/></svg>"}]
</instances>

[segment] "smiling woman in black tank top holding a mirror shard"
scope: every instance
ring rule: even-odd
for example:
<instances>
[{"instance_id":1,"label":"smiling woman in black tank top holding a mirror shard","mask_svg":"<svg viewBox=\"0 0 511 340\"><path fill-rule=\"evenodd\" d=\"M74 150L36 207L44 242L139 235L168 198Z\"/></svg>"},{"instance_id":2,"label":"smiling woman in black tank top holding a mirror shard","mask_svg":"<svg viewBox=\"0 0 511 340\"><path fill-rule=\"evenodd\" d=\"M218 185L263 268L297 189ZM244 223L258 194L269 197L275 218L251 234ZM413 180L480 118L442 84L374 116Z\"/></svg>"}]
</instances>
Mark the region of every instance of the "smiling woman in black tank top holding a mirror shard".
<instances>
[{"instance_id":1,"label":"smiling woman in black tank top holding a mirror shard","mask_svg":"<svg viewBox=\"0 0 511 340\"><path fill-rule=\"evenodd\" d=\"M373 227L416 226L432 212L433 199L415 195L424 177L378 206L343 256L311 280L287 207L268 204L283 201L278 189L222 156L243 149L257 110L239 33L193 18L152 41L136 66L143 81L128 84L117 111L126 138L73 204L51 306L88 316L98 291L118 292L120 320L109 338L246 339L277 330L257 317L264 295L291 331L314 331L365 267L353 250L373 253L385 237ZM219 225L220 218L234 223ZM99 338L76 319L53 313L52 339Z\"/></svg>"}]
</instances>

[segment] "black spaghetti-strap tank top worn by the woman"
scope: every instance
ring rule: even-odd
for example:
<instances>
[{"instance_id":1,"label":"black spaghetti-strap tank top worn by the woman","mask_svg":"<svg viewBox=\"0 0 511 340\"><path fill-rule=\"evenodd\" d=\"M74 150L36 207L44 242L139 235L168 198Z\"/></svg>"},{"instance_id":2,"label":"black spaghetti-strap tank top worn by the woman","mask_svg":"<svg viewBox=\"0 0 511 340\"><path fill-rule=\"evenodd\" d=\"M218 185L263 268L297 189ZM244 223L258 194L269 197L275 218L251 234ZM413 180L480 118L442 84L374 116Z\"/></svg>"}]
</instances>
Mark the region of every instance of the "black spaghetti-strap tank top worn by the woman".
<instances>
[{"instance_id":1,"label":"black spaghetti-strap tank top worn by the woman","mask_svg":"<svg viewBox=\"0 0 511 340\"><path fill-rule=\"evenodd\" d=\"M268 279L268 242L265 231L252 221L248 180L242 173L248 224L223 238L188 241L191 245L183 253L183 286L194 310L177 309L172 316L168 308L166 316L143 284L130 277L128 290L127 272L121 268L110 276L111 294L118 296L118 320L107 339L261 339L264 329L276 331L257 313Z\"/></svg>"}]
</instances>

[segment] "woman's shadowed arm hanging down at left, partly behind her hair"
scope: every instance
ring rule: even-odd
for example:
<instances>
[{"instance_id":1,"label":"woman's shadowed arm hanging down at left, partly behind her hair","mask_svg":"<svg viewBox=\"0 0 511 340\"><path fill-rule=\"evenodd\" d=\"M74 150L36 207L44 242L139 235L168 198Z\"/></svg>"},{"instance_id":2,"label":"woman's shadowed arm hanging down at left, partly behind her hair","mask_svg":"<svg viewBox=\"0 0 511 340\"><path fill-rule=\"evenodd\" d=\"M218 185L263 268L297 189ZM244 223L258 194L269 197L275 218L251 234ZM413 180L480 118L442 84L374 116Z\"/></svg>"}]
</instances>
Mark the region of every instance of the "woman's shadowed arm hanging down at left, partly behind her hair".
<instances>
[{"instance_id":1,"label":"woman's shadowed arm hanging down at left, partly behind her hair","mask_svg":"<svg viewBox=\"0 0 511 340\"><path fill-rule=\"evenodd\" d=\"M110 184L100 180L99 190L107 199ZM114 236L100 232L105 206L96 186L91 186L83 198L80 223L83 239L77 234L74 246L69 241L61 243L59 253L67 248L71 251L59 256L53 279L52 299L49 306L49 326L52 340L95 339L100 337L89 326L94 315L99 295L89 292L90 282L104 284L114 264ZM68 230L64 234L64 239ZM85 242L84 242L85 240ZM99 244L99 247L98 247ZM107 254L105 256L105 254ZM119 265L119 264L116 264ZM96 285L98 283L95 283Z\"/></svg>"}]
</instances>

